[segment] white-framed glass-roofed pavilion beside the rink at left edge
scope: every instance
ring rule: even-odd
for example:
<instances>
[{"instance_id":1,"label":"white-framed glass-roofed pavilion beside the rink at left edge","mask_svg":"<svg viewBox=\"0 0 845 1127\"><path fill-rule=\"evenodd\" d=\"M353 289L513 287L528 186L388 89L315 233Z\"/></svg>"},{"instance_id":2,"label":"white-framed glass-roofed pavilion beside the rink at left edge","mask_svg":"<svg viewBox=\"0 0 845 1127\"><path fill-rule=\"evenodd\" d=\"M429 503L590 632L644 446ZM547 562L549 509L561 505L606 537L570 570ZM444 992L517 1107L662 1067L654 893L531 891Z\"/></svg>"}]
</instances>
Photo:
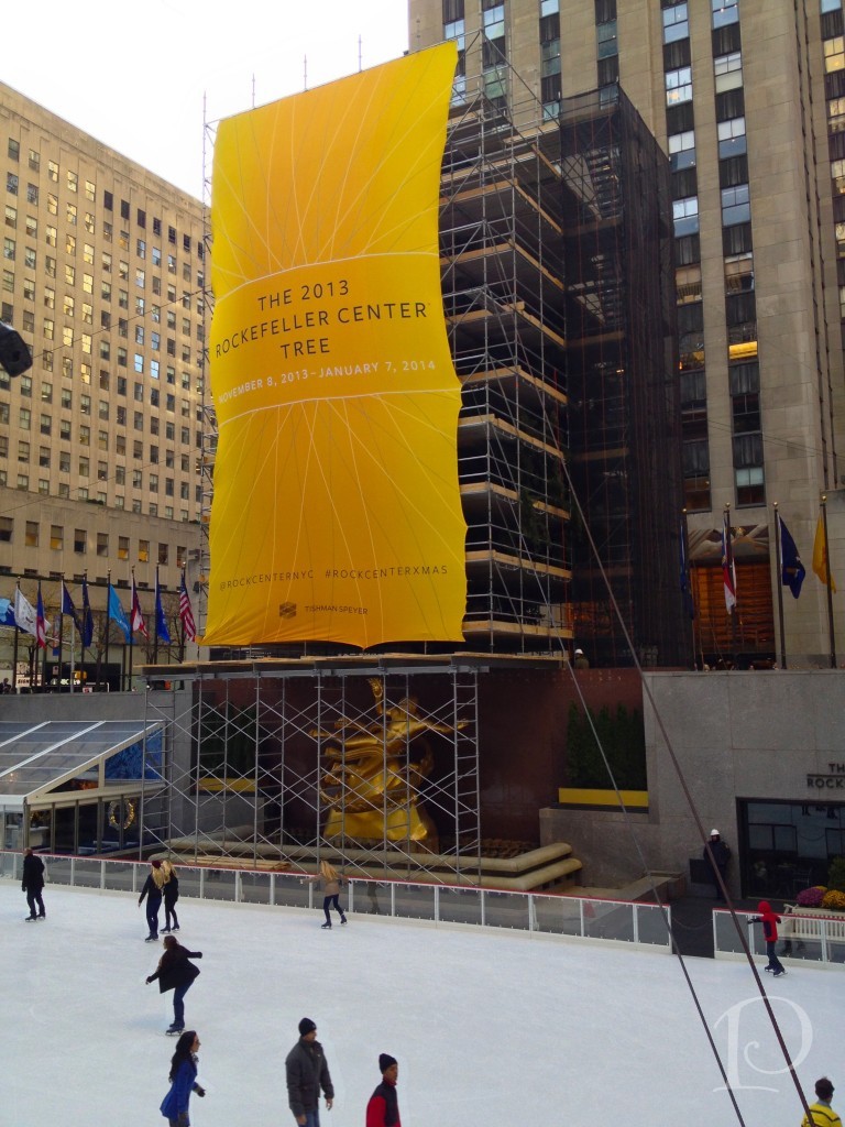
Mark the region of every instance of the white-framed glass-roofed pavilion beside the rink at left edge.
<instances>
[{"instance_id":1,"label":"white-framed glass-roofed pavilion beside the rink at left edge","mask_svg":"<svg viewBox=\"0 0 845 1127\"><path fill-rule=\"evenodd\" d=\"M136 849L140 804L162 786L163 725L142 720L0 721L5 849Z\"/></svg>"}]
</instances>

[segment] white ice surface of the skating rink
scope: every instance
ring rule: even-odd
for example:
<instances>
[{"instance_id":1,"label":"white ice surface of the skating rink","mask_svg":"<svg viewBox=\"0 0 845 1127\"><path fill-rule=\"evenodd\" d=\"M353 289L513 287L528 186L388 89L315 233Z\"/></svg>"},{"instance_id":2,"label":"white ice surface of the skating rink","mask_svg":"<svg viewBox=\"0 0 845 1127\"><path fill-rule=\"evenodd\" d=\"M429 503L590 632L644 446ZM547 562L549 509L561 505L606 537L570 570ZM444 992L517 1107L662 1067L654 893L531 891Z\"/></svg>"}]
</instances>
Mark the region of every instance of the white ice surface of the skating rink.
<instances>
[{"instance_id":1,"label":"white ice surface of the skating rink","mask_svg":"<svg viewBox=\"0 0 845 1127\"><path fill-rule=\"evenodd\" d=\"M172 995L144 984L161 948L143 942L143 909L51 885L45 905L24 923L20 886L0 881L0 1124L164 1124ZM321 912L189 899L179 915L179 940L204 952L186 997L207 1090L194 1127L294 1122L284 1059L302 1017L335 1082L322 1127L363 1127L383 1051L400 1064L403 1127L737 1121L671 956L366 915L321 931ZM748 968L686 965L745 1122L798 1127ZM845 1092L844 974L765 975L807 1093L822 1074Z\"/></svg>"}]
</instances>

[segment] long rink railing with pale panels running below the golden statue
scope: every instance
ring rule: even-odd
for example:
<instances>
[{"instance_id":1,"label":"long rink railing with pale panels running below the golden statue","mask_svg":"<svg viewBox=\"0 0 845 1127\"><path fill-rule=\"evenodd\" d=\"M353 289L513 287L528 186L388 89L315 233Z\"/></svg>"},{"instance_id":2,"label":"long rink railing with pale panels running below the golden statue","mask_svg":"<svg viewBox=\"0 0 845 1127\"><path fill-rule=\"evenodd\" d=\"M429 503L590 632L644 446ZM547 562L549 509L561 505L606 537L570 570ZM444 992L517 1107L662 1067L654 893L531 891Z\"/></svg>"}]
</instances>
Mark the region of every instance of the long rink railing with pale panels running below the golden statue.
<instances>
[{"instance_id":1,"label":"long rink railing with pale panels running below the golden statue","mask_svg":"<svg viewBox=\"0 0 845 1127\"><path fill-rule=\"evenodd\" d=\"M149 864L139 861L39 855L52 886L137 895L150 871ZM0 878L20 880L21 866L19 853L0 852ZM322 906L322 894L312 881L303 882L304 873L187 864L180 864L178 872L180 897L267 907ZM347 911L357 915L502 928L533 935L670 950L670 909L656 904L357 877L344 880L341 895Z\"/></svg>"}]
</instances>

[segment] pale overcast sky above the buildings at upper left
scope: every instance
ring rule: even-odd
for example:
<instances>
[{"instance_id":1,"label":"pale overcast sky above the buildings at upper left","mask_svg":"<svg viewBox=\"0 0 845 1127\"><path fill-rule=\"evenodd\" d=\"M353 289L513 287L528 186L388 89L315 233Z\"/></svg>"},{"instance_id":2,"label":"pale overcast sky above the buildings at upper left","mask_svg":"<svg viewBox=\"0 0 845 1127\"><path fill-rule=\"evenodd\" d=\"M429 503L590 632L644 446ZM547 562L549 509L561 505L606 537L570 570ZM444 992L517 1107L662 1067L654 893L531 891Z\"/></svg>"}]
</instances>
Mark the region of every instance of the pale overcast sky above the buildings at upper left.
<instances>
[{"instance_id":1,"label":"pale overcast sky above the buildings at upper left","mask_svg":"<svg viewBox=\"0 0 845 1127\"><path fill-rule=\"evenodd\" d=\"M6 7L0 81L198 198L204 122L408 47L406 0Z\"/></svg>"}]
</instances>

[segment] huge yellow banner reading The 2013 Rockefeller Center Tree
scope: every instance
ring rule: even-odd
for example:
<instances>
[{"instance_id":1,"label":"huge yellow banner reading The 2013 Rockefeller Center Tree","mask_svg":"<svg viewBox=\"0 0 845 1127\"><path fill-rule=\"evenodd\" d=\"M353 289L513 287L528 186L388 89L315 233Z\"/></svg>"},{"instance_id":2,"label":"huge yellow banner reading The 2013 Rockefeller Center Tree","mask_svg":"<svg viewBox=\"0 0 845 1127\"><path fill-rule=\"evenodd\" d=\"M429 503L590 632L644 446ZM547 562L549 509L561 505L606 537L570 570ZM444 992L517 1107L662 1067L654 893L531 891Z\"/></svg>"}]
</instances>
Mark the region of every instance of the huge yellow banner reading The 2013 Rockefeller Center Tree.
<instances>
[{"instance_id":1,"label":"huge yellow banner reading The 2013 Rockefeller Center Tree","mask_svg":"<svg viewBox=\"0 0 845 1127\"><path fill-rule=\"evenodd\" d=\"M205 642L456 641L444 44L222 122Z\"/></svg>"}]
</instances>

